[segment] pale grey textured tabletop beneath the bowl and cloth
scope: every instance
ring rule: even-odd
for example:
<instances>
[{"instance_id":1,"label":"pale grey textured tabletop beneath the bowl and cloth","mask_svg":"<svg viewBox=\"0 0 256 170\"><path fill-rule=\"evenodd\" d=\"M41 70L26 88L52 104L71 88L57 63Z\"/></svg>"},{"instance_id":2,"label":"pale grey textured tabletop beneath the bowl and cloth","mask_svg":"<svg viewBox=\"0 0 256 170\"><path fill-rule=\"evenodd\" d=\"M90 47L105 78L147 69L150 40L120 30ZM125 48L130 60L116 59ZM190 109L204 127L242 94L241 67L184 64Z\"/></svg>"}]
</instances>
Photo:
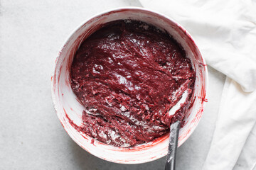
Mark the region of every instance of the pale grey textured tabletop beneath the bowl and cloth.
<instances>
[{"instance_id":1,"label":"pale grey textured tabletop beneath the bowl and cloth","mask_svg":"<svg viewBox=\"0 0 256 170\"><path fill-rule=\"evenodd\" d=\"M165 158L122 165L92 156L70 139L55 115L50 76L58 50L82 21L137 1L0 1L0 169L164 169ZM201 169L225 76L209 69L206 111L178 148L177 169Z\"/></svg>"}]
</instances>

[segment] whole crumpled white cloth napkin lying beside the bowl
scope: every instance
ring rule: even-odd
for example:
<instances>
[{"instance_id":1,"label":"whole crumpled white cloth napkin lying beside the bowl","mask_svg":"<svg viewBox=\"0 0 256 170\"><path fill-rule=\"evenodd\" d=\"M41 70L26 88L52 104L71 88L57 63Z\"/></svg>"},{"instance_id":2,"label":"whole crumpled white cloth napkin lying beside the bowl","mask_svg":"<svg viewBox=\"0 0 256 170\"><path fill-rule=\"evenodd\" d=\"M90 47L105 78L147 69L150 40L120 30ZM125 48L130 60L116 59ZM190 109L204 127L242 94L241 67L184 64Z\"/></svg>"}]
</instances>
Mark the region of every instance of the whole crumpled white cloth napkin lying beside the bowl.
<instances>
[{"instance_id":1,"label":"whole crumpled white cloth napkin lying beside the bowl","mask_svg":"<svg viewBox=\"0 0 256 170\"><path fill-rule=\"evenodd\" d=\"M256 169L256 1L140 2L186 28L207 64L227 75L203 169Z\"/></svg>"}]
</instances>

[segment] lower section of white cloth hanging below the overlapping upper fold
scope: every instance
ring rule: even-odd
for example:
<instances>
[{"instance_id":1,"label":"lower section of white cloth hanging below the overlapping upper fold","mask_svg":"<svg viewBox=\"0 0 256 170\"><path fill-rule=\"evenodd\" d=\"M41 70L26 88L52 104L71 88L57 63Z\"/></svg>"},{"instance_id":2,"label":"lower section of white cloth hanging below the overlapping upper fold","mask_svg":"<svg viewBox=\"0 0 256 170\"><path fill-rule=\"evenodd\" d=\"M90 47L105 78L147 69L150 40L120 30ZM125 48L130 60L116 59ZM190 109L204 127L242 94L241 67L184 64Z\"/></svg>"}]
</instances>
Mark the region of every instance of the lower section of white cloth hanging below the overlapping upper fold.
<instances>
[{"instance_id":1,"label":"lower section of white cloth hanging below the overlapping upper fold","mask_svg":"<svg viewBox=\"0 0 256 170\"><path fill-rule=\"evenodd\" d=\"M204 170L234 168L247 136L255 125L255 103L256 91L242 91L238 83L228 77L226 78L213 141L203 165ZM250 143L247 147L251 150L247 152L247 155L253 157L256 149ZM242 157L242 159L245 159L245 157ZM250 157L247 160L250 160ZM255 162L256 159L247 165L238 164L238 167L242 166L242 169L249 169L252 168Z\"/></svg>"}]
</instances>

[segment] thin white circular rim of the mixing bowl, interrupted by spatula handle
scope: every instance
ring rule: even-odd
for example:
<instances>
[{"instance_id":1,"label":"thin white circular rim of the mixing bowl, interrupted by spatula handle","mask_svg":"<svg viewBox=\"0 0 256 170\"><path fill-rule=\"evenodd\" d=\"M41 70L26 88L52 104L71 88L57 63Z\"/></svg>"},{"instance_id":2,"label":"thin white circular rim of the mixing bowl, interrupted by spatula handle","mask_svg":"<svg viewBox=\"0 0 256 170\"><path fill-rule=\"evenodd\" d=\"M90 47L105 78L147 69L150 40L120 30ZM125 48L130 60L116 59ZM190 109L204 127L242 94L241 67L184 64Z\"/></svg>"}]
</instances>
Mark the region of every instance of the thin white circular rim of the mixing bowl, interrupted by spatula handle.
<instances>
[{"instance_id":1,"label":"thin white circular rim of the mixing bowl, interrupted by spatula handle","mask_svg":"<svg viewBox=\"0 0 256 170\"><path fill-rule=\"evenodd\" d=\"M55 79L55 72L56 72L56 69L57 69L57 62L58 62L58 59L60 57L60 54L63 50L63 48L65 48L65 44L68 43L68 41L70 40L70 37L79 29L81 28L82 26L84 26L85 24L87 24L88 22L90 22L92 19L94 18L97 18L97 17L100 17L106 13L110 13L110 12L117 12L117 11L122 11L122 10L139 10L139 11L147 11L147 12L150 12L150 13L156 13L157 15L159 16L162 16L166 19L168 19L169 21L172 21L173 23L176 24L176 26L178 26L184 33L186 33L186 35L188 36L188 38L193 42L193 45L195 45L196 47L196 50L198 51L198 54L200 55L201 57L201 60L203 62L203 67L205 69L205 72L203 73L204 74L204 79L205 79L205 82L204 82L204 89L205 89L205 98L206 98L206 101L202 101L202 114L198 117L198 122L196 123L195 126L193 126L191 128L191 131L188 133L188 135L186 135L185 137L185 140L181 141L180 145L178 147L180 147L181 145L183 145L183 143L188 139L188 137L191 136L191 134L193 133L194 130L196 130L196 127L198 126L198 123L200 122L201 120L201 117L203 115L203 111L206 107L206 102L207 102L207 99L208 99L208 68L207 68L207 64L206 64L206 60L203 58L203 56L201 55L201 51L199 50L198 46L196 45L196 42L193 40L192 38L192 35L190 33L188 33L188 31L183 27L181 26L181 24L179 24L178 22L176 22L174 20L174 18L171 18L169 16L166 16L165 14L159 12L159 11L154 11L154 10L151 10L151 9L148 9L148 8L142 8L142 7L135 7L135 6L123 6L123 7L118 7L118 8L110 8L110 9L107 9L105 11L102 11L100 13L96 13L95 15L85 19L85 21L82 21L82 23L77 26L75 29L73 29L72 32L70 32L70 34L68 35L67 38L65 38L65 41L63 43L63 45L61 45L60 49L58 50L58 55L57 57L55 58L55 63L54 63L54 66L53 66L53 71L52 71L52 74L51 74L51 78L50 78L50 81L51 81L51 94L52 94L52 100L53 100L53 106L54 106L54 109L55 109L55 113L56 115L58 116L58 119L60 120L60 124L63 126L64 130L68 133L68 135L71 137L71 139L77 143L80 147L82 147L82 149L85 149L85 147L83 147L82 145L80 145L80 143L78 141L75 140L75 137L73 137L73 135L71 135L71 132L69 132L67 130L67 128L65 127L65 125L63 125L63 123L61 122L61 119L60 119L60 114L58 114L58 107L56 106L56 98L55 98L55 90L54 90L54 79ZM85 149L87 151L87 149ZM87 151L89 152L89 151ZM146 162L151 162L151 161L154 161L156 159L160 159L161 157L165 157L166 154L163 154L163 155L156 155L156 157L152 157L151 159L146 159L146 160L132 160L132 161L129 161L129 162L124 162L124 161L116 161L116 160L112 160L112 159L106 159L105 157L100 157L99 155L95 154L95 153L92 153L92 152L89 152L90 154L94 155L95 157L99 157L100 159L104 159L104 160L107 160L109 162L114 162L114 163L118 163L118 164L142 164L142 163L146 163Z\"/></svg>"}]
</instances>

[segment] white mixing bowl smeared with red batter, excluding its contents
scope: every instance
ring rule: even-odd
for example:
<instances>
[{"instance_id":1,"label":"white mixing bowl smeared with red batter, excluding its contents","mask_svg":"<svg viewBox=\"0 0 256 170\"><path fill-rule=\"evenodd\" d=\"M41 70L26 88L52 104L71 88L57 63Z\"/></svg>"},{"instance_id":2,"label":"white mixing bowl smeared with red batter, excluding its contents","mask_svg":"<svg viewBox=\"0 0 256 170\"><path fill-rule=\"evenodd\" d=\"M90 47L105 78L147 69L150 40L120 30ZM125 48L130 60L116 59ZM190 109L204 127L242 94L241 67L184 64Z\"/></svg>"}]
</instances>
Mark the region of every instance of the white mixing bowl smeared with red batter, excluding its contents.
<instances>
[{"instance_id":1,"label":"white mixing bowl smeared with red batter, excluding its contents","mask_svg":"<svg viewBox=\"0 0 256 170\"><path fill-rule=\"evenodd\" d=\"M92 142L92 137L78 132L70 124L70 121L73 121L76 125L82 125L83 111L83 106L70 87L70 67L75 52L77 52L81 42L95 30L101 28L102 24L120 19L144 21L161 30L166 30L186 51L186 55L191 59L193 68L196 70L196 82L193 92L193 106L189 109L185 118L185 125L179 132L178 146L181 146L192 134L201 119L207 101L208 71L206 62L191 35L182 26L163 14L145 8L125 7L106 11L90 18L82 23L82 26L75 29L61 47L55 60L55 68L51 78L53 103L63 128L87 152L107 161L122 164L151 162L166 155L169 135L135 147L122 148L106 145L96 140Z\"/></svg>"}]
</instances>

